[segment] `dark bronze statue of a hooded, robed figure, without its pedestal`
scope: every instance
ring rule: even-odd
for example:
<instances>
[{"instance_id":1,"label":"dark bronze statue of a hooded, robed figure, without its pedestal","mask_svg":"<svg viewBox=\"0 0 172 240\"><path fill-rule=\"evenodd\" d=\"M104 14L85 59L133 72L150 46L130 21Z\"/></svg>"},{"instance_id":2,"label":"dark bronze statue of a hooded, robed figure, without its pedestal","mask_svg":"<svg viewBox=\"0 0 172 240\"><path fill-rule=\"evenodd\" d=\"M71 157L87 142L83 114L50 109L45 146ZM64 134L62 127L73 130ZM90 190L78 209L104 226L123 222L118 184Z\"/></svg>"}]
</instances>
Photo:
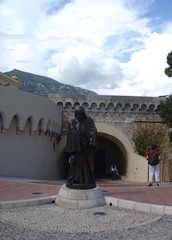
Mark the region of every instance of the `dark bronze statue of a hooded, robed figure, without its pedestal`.
<instances>
[{"instance_id":1,"label":"dark bronze statue of a hooded, robed figure, without its pedestal","mask_svg":"<svg viewBox=\"0 0 172 240\"><path fill-rule=\"evenodd\" d=\"M77 106L75 118L69 122L67 149L69 174L66 187L91 189L96 187L91 155L96 147L96 127L92 118L87 117L85 109Z\"/></svg>"}]
</instances>

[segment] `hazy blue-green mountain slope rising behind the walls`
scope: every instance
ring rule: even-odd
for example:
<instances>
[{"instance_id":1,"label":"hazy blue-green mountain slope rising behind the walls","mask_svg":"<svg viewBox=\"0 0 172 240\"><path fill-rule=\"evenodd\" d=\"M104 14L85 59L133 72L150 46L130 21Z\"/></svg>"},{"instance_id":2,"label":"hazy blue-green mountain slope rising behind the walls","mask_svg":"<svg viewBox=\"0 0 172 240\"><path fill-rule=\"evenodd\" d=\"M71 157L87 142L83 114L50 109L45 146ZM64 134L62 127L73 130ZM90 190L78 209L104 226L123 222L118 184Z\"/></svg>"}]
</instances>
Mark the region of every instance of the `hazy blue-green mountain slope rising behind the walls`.
<instances>
[{"instance_id":1,"label":"hazy blue-green mountain slope rising behind the walls","mask_svg":"<svg viewBox=\"0 0 172 240\"><path fill-rule=\"evenodd\" d=\"M57 82L56 80L28 72L23 72L13 69L9 72L4 72L7 76L17 75L20 83L20 89L26 92L31 92L41 96L48 96L50 93L56 94L75 94L75 95L97 95L97 93L73 87L71 85Z\"/></svg>"}]
</instances>

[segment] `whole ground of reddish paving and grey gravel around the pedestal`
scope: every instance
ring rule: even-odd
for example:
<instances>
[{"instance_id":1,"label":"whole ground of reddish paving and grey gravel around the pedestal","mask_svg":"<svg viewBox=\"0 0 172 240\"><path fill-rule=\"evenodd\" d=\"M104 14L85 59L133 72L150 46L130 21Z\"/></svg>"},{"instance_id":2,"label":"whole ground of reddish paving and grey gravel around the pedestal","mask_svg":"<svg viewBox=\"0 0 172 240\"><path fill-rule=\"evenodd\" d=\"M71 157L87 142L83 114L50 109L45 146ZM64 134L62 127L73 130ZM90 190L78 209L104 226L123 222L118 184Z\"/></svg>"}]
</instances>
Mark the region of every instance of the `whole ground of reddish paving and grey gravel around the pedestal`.
<instances>
[{"instance_id":1,"label":"whole ground of reddish paving and grey gravel around the pedestal","mask_svg":"<svg viewBox=\"0 0 172 240\"><path fill-rule=\"evenodd\" d=\"M145 204L151 202L160 204L157 206L163 206L166 203L169 209L172 206L172 198L166 200L165 197L172 194L171 183L162 183L159 188L155 186L149 188L140 183L130 184L110 180L98 180L97 183L107 197L114 199L121 197L126 201L138 201L138 203ZM64 181L0 179L0 204L18 200L25 200L29 203L33 198L52 197L57 195L62 184ZM151 195L154 195L155 199L157 196L157 200L151 199ZM162 199L161 203L160 199ZM0 239L171 240L172 214L162 215L113 205L81 210L64 209L55 205L53 201L44 205L1 208Z\"/></svg>"}]
</instances>

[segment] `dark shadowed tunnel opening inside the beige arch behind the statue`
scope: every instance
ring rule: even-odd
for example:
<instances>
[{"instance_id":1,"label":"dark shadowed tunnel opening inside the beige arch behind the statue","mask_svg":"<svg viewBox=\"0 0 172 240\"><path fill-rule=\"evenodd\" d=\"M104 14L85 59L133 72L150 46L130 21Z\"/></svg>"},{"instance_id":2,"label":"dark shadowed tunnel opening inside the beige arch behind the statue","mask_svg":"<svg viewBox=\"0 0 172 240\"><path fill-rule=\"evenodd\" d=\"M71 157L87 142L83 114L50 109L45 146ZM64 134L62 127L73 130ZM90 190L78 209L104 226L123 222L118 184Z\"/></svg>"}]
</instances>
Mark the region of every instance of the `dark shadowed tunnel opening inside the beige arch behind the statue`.
<instances>
[{"instance_id":1,"label":"dark shadowed tunnel opening inside the beige arch behind the statue","mask_svg":"<svg viewBox=\"0 0 172 240\"><path fill-rule=\"evenodd\" d=\"M126 174L126 160L115 142L98 136L97 151L94 158L94 175L96 178L110 177L111 165L116 165L121 176Z\"/></svg>"}]
</instances>

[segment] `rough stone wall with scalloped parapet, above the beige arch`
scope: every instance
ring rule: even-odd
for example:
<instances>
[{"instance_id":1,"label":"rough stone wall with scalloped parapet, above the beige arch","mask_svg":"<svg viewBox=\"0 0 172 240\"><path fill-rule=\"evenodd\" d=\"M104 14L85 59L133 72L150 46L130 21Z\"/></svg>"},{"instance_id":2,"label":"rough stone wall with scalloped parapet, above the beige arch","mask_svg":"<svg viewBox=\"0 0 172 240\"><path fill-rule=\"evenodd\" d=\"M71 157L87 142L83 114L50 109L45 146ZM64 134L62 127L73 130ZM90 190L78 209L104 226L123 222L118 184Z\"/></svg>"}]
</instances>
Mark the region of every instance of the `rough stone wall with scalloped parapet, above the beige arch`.
<instances>
[{"instance_id":1,"label":"rough stone wall with scalloped parapet, above the beige arch","mask_svg":"<svg viewBox=\"0 0 172 240\"><path fill-rule=\"evenodd\" d=\"M139 123L163 124L159 117L160 97L49 95L63 109L63 134L68 120L73 118L77 105L83 105L87 115L97 123L106 123L123 132L131 144L134 129Z\"/></svg>"}]
</instances>

